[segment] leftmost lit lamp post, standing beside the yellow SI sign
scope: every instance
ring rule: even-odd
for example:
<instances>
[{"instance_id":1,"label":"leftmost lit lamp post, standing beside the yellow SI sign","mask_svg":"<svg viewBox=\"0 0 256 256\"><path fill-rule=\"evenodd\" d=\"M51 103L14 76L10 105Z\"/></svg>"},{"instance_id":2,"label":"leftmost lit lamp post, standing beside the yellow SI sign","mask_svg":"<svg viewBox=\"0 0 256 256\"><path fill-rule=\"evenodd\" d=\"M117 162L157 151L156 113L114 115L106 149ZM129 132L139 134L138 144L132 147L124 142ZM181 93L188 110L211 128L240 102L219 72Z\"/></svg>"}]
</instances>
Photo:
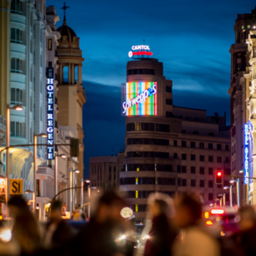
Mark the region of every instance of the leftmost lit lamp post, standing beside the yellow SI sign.
<instances>
[{"instance_id":1,"label":"leftmost lit lamp post, standing beside the yellow SI sign","mask_svg":"<svg viewBox=\"0 0 256 256\"><path fill-rule=\"evenodd\" d=\"M17 110L21 111L23 110L23 107L20 105L15 105L12 108L10 108L10 105L7 105L7 124L6 124L6 147L7 147L7 152L6 152L6 176L5 176L5 200L6 203L8 203L9 197L10 197L10 191L9 191L9 173L10 173L10 155L9 155L9 147L10 147L10 110ZM7 209L8 213L8 209Z\"/></svg>"}]
</instances>

